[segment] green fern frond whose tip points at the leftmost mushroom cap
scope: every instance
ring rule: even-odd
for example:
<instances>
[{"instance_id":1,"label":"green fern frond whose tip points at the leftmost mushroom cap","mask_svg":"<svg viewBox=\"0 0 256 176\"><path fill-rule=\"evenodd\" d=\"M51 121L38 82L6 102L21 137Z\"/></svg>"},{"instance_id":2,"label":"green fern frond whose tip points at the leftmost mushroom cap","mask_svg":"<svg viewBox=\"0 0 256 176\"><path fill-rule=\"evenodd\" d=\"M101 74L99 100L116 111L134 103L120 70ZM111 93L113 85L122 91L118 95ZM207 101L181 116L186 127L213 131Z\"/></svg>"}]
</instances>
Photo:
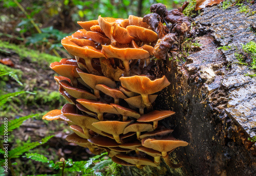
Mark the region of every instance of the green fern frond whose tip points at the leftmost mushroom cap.
<instances>
[{"instance_id":1,"label":"green fern frond whose tip points at the leftmost mushroom cap","mask_svg":"<svg viewBox=\"0 0 256 176\"><path fill-rule=\"evenodd\" d=\"M13 129L19 127L20 125L22 125L22 123L27 120L27 119L30 119L30 118L33 118L33 117L36 117L36 116L39 116L39 114L34 114L34 115L29 115L29 116L24 116L24 117L20 117L18 119L13 119L13 120L10 120L8 122L8 133L11 132ZM4 135L4 125L2 124L0 126L0 135Z\"/></svg>"}]
</instances>

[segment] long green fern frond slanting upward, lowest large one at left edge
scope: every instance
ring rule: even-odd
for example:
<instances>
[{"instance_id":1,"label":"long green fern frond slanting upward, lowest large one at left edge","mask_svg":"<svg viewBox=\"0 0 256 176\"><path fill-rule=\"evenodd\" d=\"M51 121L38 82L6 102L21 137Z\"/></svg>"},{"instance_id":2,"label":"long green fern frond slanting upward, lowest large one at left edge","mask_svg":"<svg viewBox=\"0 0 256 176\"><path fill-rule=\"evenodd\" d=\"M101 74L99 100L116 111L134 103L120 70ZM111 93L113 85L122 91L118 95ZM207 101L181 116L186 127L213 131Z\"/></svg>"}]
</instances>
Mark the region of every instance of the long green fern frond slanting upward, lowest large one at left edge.
<instances>
[{"instance_id":1,"label":"long green fern frond slanting upward, lowest large one at left edge","mask_svg":"<svg viewBox=\"0 0 256 176\"><path fill-rule=\"evenodd\" d=\"M54 135L53 135L54 136ZM46 143L49 139L51 139L53 136L48 136L41 140L41 142L31 142L31 143L25 143L23 146L18 146L16 148L13 148L10 150L9 153L9 159L11 158L17 158L20 155L22 155L24 152L37 147L38 145Z\"/></svg>"}]
</instances>

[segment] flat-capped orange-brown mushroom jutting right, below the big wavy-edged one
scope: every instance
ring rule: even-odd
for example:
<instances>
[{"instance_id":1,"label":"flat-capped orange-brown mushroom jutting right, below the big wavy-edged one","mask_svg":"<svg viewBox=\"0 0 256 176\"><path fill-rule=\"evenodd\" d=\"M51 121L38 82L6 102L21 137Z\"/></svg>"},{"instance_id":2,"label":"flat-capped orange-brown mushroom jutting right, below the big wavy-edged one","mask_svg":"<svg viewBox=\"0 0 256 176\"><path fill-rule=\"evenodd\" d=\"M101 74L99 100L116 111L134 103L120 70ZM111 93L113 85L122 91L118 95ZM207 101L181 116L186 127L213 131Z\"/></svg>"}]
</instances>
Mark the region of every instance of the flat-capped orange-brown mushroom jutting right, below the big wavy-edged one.
<instances>
[{"instance_id":1,"label":"flat-capped orange-brown mushroom jutting right, below the big wavy-edged one","mask_svg":"<svg viewBox=\"0 0 256 176\"><path fill-rule=\"evenodd\" d=\"M159 120L162 120L166 117L174 115L173 111L153 111L147 114L142 115L137 121L138 122L153 122L153 128L157 128L157 124Z\"/></svg>"}]
</instances>

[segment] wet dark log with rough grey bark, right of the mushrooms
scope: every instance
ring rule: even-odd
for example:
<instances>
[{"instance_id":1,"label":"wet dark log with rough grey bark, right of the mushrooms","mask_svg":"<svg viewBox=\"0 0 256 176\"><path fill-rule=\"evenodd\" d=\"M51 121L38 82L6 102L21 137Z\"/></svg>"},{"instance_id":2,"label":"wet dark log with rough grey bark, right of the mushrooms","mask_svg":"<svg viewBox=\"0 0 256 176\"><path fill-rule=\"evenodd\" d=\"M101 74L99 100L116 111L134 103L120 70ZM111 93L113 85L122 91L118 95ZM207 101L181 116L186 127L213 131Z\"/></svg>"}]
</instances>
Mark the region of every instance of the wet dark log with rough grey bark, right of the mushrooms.
<instances>
[{"instance_id":1,"label":"wet dark log with rough grey bark, right of the mushrooms","mask_svg":"<svg viewBox=\"0 0 256 176\"><path fill-rule=\"evenodd\" d=\"M256 135L256 79L245 76L255 73L234 56L240 43L256 41L250 30L256 15L238 11L205 8L194 19L201 51L184 64L171 53L173 59L161 63L171 84L161 91L154 108L176 112L159 123L174 129L175 138L189 142L169 155L184 166L172 169L162 160L159 167L122 167L123 175L256 175L256 147L248 141ZM217 49L226 45L235 49Z\"/></svg>"}]
</instances>

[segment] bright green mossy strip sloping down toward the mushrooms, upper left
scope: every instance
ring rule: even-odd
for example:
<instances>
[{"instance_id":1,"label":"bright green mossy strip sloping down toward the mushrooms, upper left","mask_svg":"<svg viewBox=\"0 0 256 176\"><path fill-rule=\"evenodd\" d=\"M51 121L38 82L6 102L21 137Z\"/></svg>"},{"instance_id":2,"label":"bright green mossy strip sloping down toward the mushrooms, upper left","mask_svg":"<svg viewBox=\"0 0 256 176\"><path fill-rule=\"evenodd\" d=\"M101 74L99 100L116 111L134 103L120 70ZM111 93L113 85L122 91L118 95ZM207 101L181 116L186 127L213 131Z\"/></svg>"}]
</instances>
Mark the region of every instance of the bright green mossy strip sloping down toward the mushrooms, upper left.
<instances>
[{"instance_id":1,"label":"bright green mossy strip sloping down toward the mushrooms, upper left","mask_svg":"<svg viewBox=\"0 0 256 176\"><path fill-rule=\"evenodd\" d=\"M6 41L1 41L1 40L0 40L0 49L2 49L2 50L5 50L5 49L13 50L19 55L19 57L21 59L29 57L29 58L31 58L31 60L33 62L38 62L39 65L41 63L46 63L46 62L48 64L50 64L52 62L60 60L59 57L52 56L52 55L45 54L45 53L40 53L40 52L35 51L35 50L30 50L30 49L26 48L25 46L21 46L21 45L17 46L17 45L11 44L11 43L6 42Z\"/></svg>"}]
</instances>

